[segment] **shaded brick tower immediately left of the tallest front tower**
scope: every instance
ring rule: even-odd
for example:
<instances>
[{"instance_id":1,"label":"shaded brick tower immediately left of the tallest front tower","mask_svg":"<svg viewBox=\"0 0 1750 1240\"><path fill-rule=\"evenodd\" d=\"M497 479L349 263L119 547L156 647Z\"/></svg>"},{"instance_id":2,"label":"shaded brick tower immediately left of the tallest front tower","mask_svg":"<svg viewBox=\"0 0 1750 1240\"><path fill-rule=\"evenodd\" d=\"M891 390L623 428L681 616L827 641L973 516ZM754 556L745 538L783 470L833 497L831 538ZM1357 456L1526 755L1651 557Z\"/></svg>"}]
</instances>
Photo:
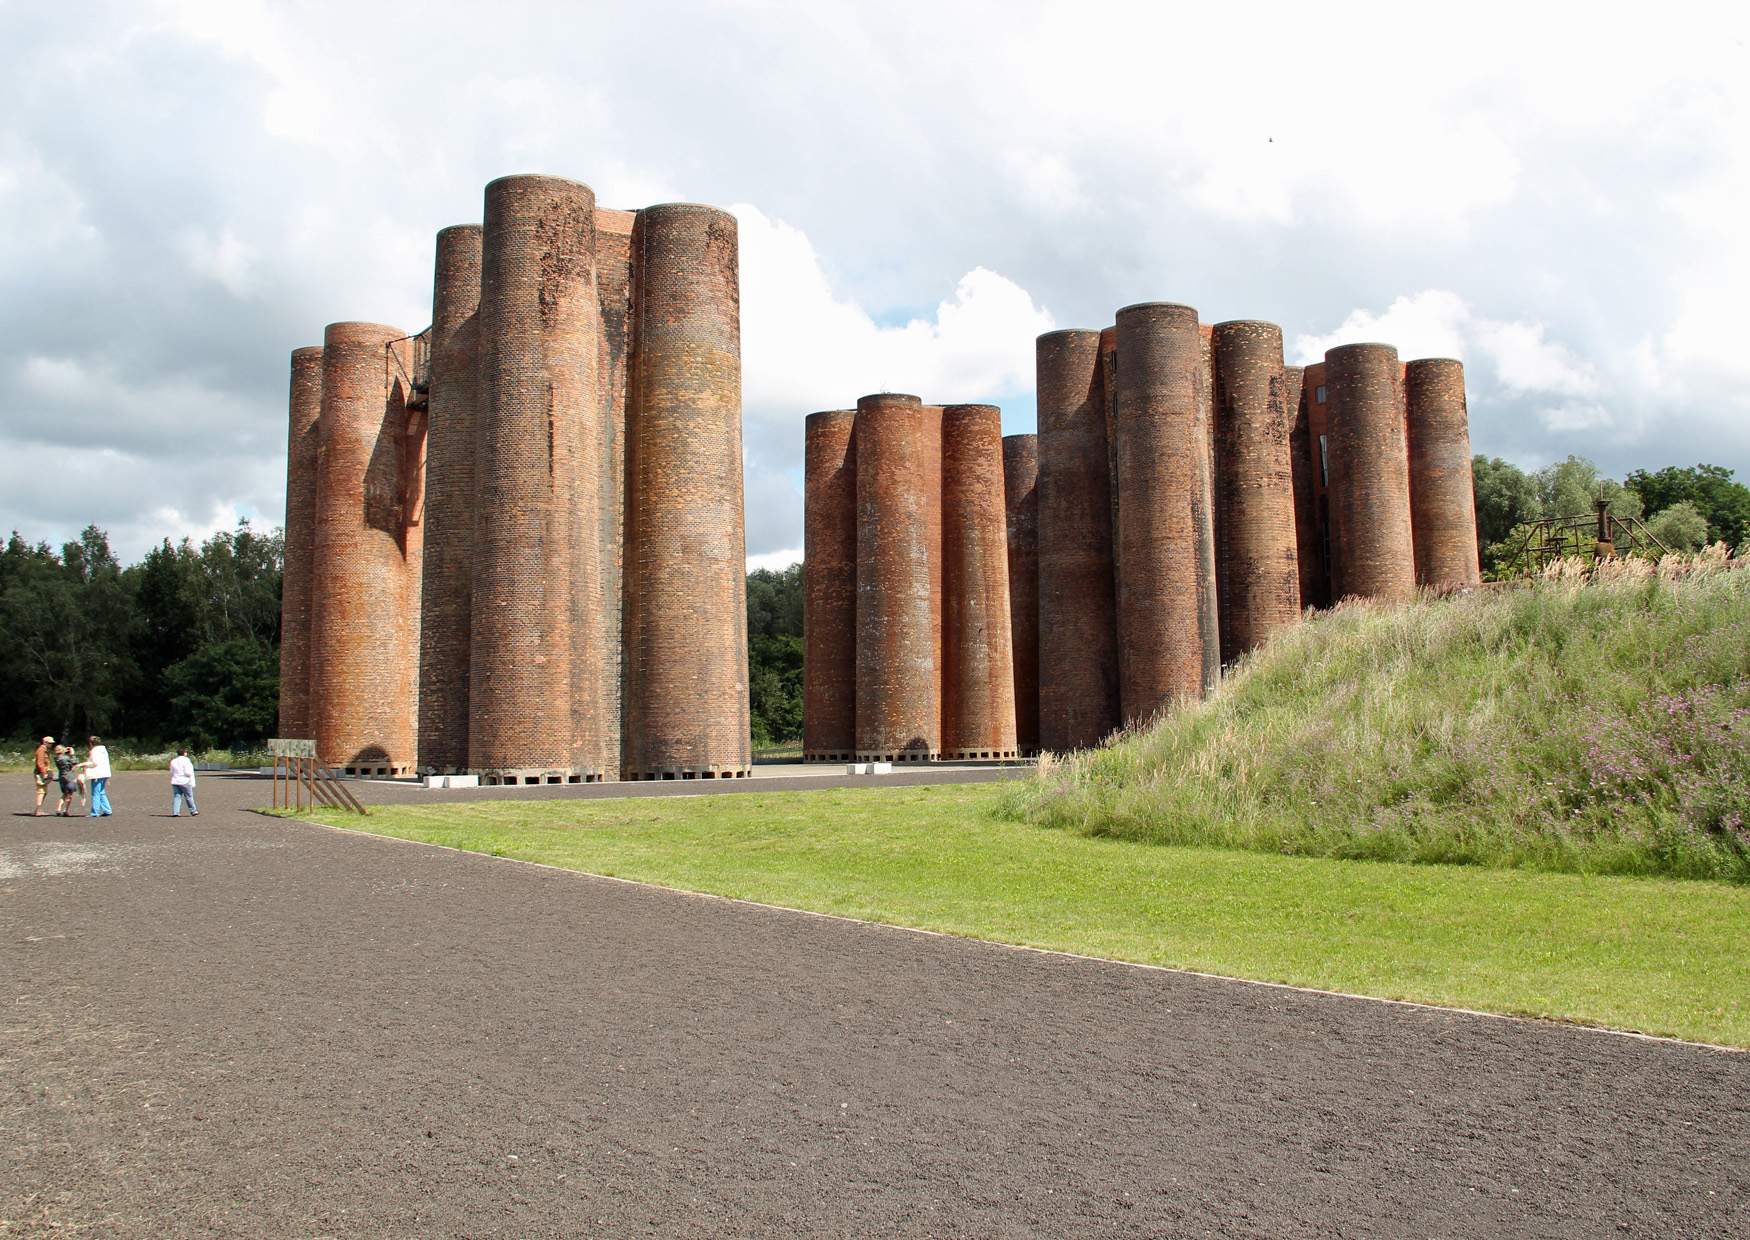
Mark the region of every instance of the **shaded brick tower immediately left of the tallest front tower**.
<instances>
[{"instance_id":1,"label":"shaded brick tower immediately left of the tallest front tower","mask_svg":"<svg viewBox=\"0 0 1750 1240\"><path fill-rule=\"evenodd\" d=\"M478 310L480 226L446 227L432 282L420 595L420 768L439 773L467 770Z\"/></svg>"}]
</instances>

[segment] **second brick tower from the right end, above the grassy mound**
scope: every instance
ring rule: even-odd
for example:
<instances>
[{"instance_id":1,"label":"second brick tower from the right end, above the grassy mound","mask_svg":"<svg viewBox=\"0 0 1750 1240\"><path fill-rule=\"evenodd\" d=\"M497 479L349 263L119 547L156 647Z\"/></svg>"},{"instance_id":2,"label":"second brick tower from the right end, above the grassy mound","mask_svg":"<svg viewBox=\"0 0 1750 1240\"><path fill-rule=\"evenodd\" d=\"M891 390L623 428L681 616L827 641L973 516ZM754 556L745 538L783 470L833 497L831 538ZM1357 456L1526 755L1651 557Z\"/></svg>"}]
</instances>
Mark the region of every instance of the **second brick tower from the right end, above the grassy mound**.
<instances>
[{"instance_id":1,"label":"second brick tower from the right end, above the grassy mound","mask_svg":"<svg viewBox=\"0 0 1750 1240\"><path fill-rule=\"evenodd\" d=\"M1342 595L1388 602L1416 595L1398 374L1398 352L1390 345L1342 345L1325 353L1330 512Z\"/></svg>"}]
</instances>

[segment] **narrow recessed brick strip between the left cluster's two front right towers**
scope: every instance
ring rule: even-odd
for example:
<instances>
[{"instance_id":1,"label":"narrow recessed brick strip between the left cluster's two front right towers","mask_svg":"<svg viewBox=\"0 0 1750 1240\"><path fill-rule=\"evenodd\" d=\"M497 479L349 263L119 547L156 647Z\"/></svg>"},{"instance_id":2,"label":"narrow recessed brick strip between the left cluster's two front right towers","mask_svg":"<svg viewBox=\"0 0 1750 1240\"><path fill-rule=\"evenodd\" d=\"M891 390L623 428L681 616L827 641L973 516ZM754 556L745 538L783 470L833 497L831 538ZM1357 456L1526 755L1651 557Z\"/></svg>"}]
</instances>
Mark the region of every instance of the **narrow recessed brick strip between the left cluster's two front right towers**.
<instances>
[{"instance_id":1,"label":"narrow recessed brick strip between the left cluster's two front right towers","mask_svg":"<svg viewBox=\"0 0 1750 1240\"><path fill-rule=\"evenodd\" d=\"M637 212L595 208L595 290L602 304L602 336L595 373L602 387L602 430L592 477L597 486L597 554L602 560L602 773L616 778L625 757L625 574L626 574L626 444L634 353L632 229Z\"/></svg>"}]
</instances>

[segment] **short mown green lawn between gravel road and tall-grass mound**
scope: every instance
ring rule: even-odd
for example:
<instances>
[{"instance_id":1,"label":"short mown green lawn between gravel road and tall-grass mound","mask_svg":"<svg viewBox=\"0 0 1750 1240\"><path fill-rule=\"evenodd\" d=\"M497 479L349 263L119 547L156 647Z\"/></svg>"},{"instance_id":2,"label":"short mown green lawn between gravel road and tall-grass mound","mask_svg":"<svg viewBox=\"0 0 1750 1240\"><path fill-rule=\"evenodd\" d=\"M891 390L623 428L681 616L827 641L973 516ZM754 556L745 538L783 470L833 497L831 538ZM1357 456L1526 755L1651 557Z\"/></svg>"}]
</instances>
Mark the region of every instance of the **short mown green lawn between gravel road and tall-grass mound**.
<instances>
[{"instance_id":1,"label":"short mown green lawn between gravel road and tall-grass mound","mask_svg":"<svg viewBox=\"0 0 1750 1240\"><path fill-rule=\"evenodd\" d=\"M1750 1046L1750 888L1284 857L1015 822L1003 787L322 813L332 826L1001 943Z\"/></svg>"}]
</instances>

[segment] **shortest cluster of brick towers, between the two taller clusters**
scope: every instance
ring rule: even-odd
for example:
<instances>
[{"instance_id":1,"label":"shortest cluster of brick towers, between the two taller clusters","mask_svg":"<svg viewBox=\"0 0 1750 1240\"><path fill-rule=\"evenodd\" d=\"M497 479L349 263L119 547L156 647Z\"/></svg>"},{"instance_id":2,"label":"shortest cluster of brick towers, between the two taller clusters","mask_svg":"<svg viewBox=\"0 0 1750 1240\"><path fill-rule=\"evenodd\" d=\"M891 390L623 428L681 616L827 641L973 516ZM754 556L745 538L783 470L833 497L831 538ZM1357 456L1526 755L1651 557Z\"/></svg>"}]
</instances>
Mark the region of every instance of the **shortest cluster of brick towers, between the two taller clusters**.
<instances>
[{"instance_id":1,"label":"shortest cluster of brick towers, between the two taller clusters","mask_svg":"<svg viewBox=\"0 0 1750 1240\"><path fill-rule=\"evenodd\" d=\"M810 414L805 479L805 757L1017 757L998 408Z\"/></svg>"}]
</instances>

